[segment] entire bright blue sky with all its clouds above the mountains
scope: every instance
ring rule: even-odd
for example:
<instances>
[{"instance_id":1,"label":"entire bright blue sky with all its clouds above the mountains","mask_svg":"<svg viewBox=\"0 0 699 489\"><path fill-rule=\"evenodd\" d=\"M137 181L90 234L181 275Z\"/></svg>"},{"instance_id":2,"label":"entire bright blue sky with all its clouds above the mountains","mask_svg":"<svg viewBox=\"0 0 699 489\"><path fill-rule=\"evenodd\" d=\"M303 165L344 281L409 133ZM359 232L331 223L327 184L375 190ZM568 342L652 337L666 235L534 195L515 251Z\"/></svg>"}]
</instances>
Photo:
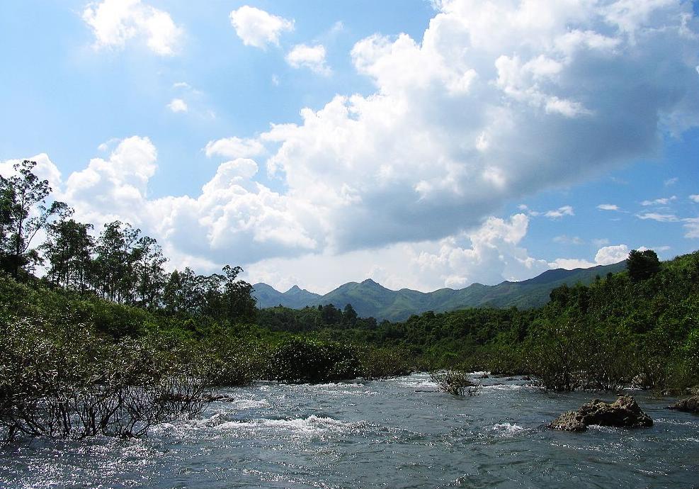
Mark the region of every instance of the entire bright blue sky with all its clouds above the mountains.
<instances>
[{"instance_id":1,"label":"entire bright blue sky with all its clouds above the mountains","mask_svg":"<svg viewBox=\"0 0 699 489\"><path fill-rule=\"evenodd\" d=\"M699 248L697 10L3 2L0 172L280 290L669 258Z\"/></svg>"}]
</instances>

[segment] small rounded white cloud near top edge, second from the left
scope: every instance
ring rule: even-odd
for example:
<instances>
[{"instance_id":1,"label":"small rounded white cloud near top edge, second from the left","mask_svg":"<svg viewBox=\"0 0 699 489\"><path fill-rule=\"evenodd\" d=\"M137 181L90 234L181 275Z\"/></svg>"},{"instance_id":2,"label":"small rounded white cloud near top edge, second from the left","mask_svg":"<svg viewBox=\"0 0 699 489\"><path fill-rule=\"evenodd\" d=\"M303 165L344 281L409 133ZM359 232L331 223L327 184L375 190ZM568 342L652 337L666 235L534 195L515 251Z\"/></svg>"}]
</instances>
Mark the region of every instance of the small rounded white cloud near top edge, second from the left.
<instances>
[{"instance_id":1,"label":"small rounded white cloud near top edge, second from the left","mask_svg":"<svg viewBox=\"0 0 699 489\"><path fill-rule=\"evenodd\" d=\"M244 45L261 49L266 49L268 45L278 46L281 33L294 29L294 21L249 5L232 11L230 19Z\"/></svg>"}]
</instances>

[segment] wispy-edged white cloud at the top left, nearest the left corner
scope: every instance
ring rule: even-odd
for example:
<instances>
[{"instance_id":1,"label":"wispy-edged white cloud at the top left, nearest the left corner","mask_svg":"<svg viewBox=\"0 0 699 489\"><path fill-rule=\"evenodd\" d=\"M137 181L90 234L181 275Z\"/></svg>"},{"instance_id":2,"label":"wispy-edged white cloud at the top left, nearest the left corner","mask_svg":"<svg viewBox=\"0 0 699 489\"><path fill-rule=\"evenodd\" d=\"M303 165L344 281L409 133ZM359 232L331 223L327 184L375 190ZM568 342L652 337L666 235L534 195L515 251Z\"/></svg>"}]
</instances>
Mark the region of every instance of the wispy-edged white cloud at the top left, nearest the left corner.
<instances>
[{"instance_id":1,"label":"wispy-edged white cloud at the top left, nearest the left corner","mask_svg":"<svg viewBox=\"0 0 699 489\"><path fill-rule=\"evenodd\" d=\"M176 53L183 34L170 14L140 0L103 0L86 6L83 20L95 35L98 48L123 48L132 38L144 38L150 50L161 56Z\"/></svg>"}]
</instances>

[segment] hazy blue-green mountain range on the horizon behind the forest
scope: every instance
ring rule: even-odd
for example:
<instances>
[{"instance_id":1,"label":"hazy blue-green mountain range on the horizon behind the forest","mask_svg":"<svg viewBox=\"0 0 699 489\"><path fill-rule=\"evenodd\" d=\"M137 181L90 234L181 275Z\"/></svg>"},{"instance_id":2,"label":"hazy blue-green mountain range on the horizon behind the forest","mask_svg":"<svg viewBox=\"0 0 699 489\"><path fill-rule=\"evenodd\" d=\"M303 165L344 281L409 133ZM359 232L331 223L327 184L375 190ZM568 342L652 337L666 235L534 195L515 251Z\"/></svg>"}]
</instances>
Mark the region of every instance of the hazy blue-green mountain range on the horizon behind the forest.
<instances>
[{"instance_id":1,"label":"hazy blue-green mountain range on the horizon behind the forest","mask_svg":"<svg viewBox=\"0 0 699 489\"><path fill-rule=\"evenodd\" d=\"M441 313L483 306L535 308L547 303L551 290L563 283L569 286L578 282L588 284L594 281L597 275L603 277L608 273L623 271L625 268L626 262L619 262L613 265L593 266L589 269L547 270L533 279L521 282L504 281L496 286L473 283L458 290L440 288L428 293L412 291L409 288L392 291L371 279L361 283L345 283L324 296L298 286L293 286L286 292L279 292L266 283L256 283L253 296L257 299L260 308L284 305L288 308L300 309L307 305L319 304L332 304L337 308L344 308L345 305L351 304L361 317L373 316L377 320L400 321L412 314L420 314L428 310Z\"/></svg>"}]
</instances>

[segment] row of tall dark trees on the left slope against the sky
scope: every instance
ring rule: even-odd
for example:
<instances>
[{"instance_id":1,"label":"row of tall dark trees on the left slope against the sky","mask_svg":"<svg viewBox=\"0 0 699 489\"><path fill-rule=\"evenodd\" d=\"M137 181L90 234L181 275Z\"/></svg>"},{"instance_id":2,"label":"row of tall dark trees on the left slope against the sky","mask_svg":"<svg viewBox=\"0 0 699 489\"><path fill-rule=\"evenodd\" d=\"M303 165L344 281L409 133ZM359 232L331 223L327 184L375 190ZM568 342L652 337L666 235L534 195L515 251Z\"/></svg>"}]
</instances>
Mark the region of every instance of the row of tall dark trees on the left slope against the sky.
<instances>
[{"instance_id":1,"label":"row of tall dark trees on the left slope against the sky","mask_svg":"<svg viewBox=\"0 0 699 489\"><path fill-rule=\"evenodd\" d=\"M52 189L35 166L25 160L13 175L0 176L0 269L14 279L43 266L48 285L119 304L232 322L254 318L252 286L238 279L239 266L208 276L190 268L167 273L157 240L136 227L115 220L95 236L66 203L48 203Z\"/></svg>"}]
</instances>

